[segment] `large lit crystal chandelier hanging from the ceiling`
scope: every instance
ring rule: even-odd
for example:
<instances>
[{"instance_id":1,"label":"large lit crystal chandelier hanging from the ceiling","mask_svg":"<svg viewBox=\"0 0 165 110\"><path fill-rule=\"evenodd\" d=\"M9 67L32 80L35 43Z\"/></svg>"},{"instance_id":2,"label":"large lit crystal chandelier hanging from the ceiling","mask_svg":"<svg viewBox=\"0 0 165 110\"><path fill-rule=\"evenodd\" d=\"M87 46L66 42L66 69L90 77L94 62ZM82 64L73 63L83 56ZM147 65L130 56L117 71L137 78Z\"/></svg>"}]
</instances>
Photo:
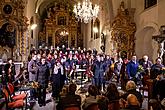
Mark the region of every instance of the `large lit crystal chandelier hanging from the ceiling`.
<instances>
[{"instance_id":1,"label":"large lit crystal chandelier hanging from the ceiling","mask_svg":"<svg viewBox=\"0 0 165 110\"><path fill-rule=\"evenodd\" d=\"M74 6L73 12L78 20L84 21L84 23L88 23L93 18L97 18L99 12L99 6L94 5L90 0L85 0L82 4L78 3Z\"/></svg>"}]
</instances>

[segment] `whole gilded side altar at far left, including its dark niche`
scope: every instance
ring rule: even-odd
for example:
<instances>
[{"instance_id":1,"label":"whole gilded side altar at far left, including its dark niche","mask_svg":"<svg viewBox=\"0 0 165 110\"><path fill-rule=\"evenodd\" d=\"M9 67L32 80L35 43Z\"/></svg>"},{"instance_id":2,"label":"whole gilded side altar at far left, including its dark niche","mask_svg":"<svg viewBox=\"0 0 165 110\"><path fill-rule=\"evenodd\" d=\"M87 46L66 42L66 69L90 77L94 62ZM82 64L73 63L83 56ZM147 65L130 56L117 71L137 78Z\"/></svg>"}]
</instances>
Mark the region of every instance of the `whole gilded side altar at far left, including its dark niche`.
<instances>
[{"instance_id":1,"label":"whole gilded side altar at far left, including its dark niche","mask_svg":"<svg viewBox=\"0 0 165 110\"><path fill-rule=\"evenodd\" d=\"M24 0L0 1L0 58L4 60L23 60L26 54L25 4Z\"/></svg>"}]
</instances>

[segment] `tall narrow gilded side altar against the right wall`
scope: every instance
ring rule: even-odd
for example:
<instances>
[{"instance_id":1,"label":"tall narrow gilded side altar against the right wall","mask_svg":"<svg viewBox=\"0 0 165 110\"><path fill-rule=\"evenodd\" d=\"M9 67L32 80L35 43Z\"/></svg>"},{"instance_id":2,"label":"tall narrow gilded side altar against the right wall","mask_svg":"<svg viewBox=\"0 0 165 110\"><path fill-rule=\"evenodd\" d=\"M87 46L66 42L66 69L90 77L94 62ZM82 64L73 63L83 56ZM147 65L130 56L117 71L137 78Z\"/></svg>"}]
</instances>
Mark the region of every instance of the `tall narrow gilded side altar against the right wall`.
<instances>
[{"instance_id":1,"label":"tall narrow gilded side altar against the right wall","mask_svg":"<svg viewBox=\"0 0 165 110\"><path fill-rule=\"evenodd\" d=\"M136 24L131 21L128 10L124 8L124 2L121 2L111 29L114 47L120 57L131 58L135 54L135 31Z\"/></svg>"}]
</instances>

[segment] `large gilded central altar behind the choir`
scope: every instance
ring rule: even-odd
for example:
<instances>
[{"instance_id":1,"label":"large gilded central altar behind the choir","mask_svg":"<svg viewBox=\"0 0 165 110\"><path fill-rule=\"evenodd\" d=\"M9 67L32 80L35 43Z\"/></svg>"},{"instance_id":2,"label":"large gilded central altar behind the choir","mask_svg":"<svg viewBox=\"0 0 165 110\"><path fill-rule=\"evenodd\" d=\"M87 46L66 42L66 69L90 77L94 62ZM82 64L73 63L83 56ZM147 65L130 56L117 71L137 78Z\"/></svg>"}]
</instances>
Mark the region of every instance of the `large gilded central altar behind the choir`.
<instances>
[{"instance_id":1,"label":"large gilded central altar behind the choir","mask_svg":"<svg viewBox=\"0 0 165 110\"><path fill-rule=\"evenodd\" d=\"M47 7L44 27L39 33L39 45L81 47L81 28L72 12L69 1L57 1Z\"/></svg>"}]
</instances>

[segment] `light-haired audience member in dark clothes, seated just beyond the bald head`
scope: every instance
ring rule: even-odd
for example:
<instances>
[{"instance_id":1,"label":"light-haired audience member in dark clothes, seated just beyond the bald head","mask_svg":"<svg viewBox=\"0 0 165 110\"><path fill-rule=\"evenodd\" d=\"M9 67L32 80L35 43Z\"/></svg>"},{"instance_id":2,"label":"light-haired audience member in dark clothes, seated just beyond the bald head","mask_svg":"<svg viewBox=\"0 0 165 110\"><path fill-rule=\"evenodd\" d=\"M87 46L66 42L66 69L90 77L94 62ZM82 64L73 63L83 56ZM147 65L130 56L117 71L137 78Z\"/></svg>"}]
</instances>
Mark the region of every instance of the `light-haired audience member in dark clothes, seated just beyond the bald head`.
<instances>
[{"instance_id":1,"label":"light-haired audience member in dark clothes, seated just beyond the bald head","mask_svg":"<svg viewBox=\"0 0 165 110\"><path fill-rule=\"evenodd\" d=\"M127 84L126 84L126 90L127 90L127 92L125 94L123 94L121 96L121 98L123 98L124 100L126 100L127 99L127 96L129 94L133 94L133 95L135 95L137 97L140 105L142 105L143 97L142 97L141 93L136 90L136 84L135 84L134 81L128 81L127 82Z\"/></svg>"}]
</instances>

